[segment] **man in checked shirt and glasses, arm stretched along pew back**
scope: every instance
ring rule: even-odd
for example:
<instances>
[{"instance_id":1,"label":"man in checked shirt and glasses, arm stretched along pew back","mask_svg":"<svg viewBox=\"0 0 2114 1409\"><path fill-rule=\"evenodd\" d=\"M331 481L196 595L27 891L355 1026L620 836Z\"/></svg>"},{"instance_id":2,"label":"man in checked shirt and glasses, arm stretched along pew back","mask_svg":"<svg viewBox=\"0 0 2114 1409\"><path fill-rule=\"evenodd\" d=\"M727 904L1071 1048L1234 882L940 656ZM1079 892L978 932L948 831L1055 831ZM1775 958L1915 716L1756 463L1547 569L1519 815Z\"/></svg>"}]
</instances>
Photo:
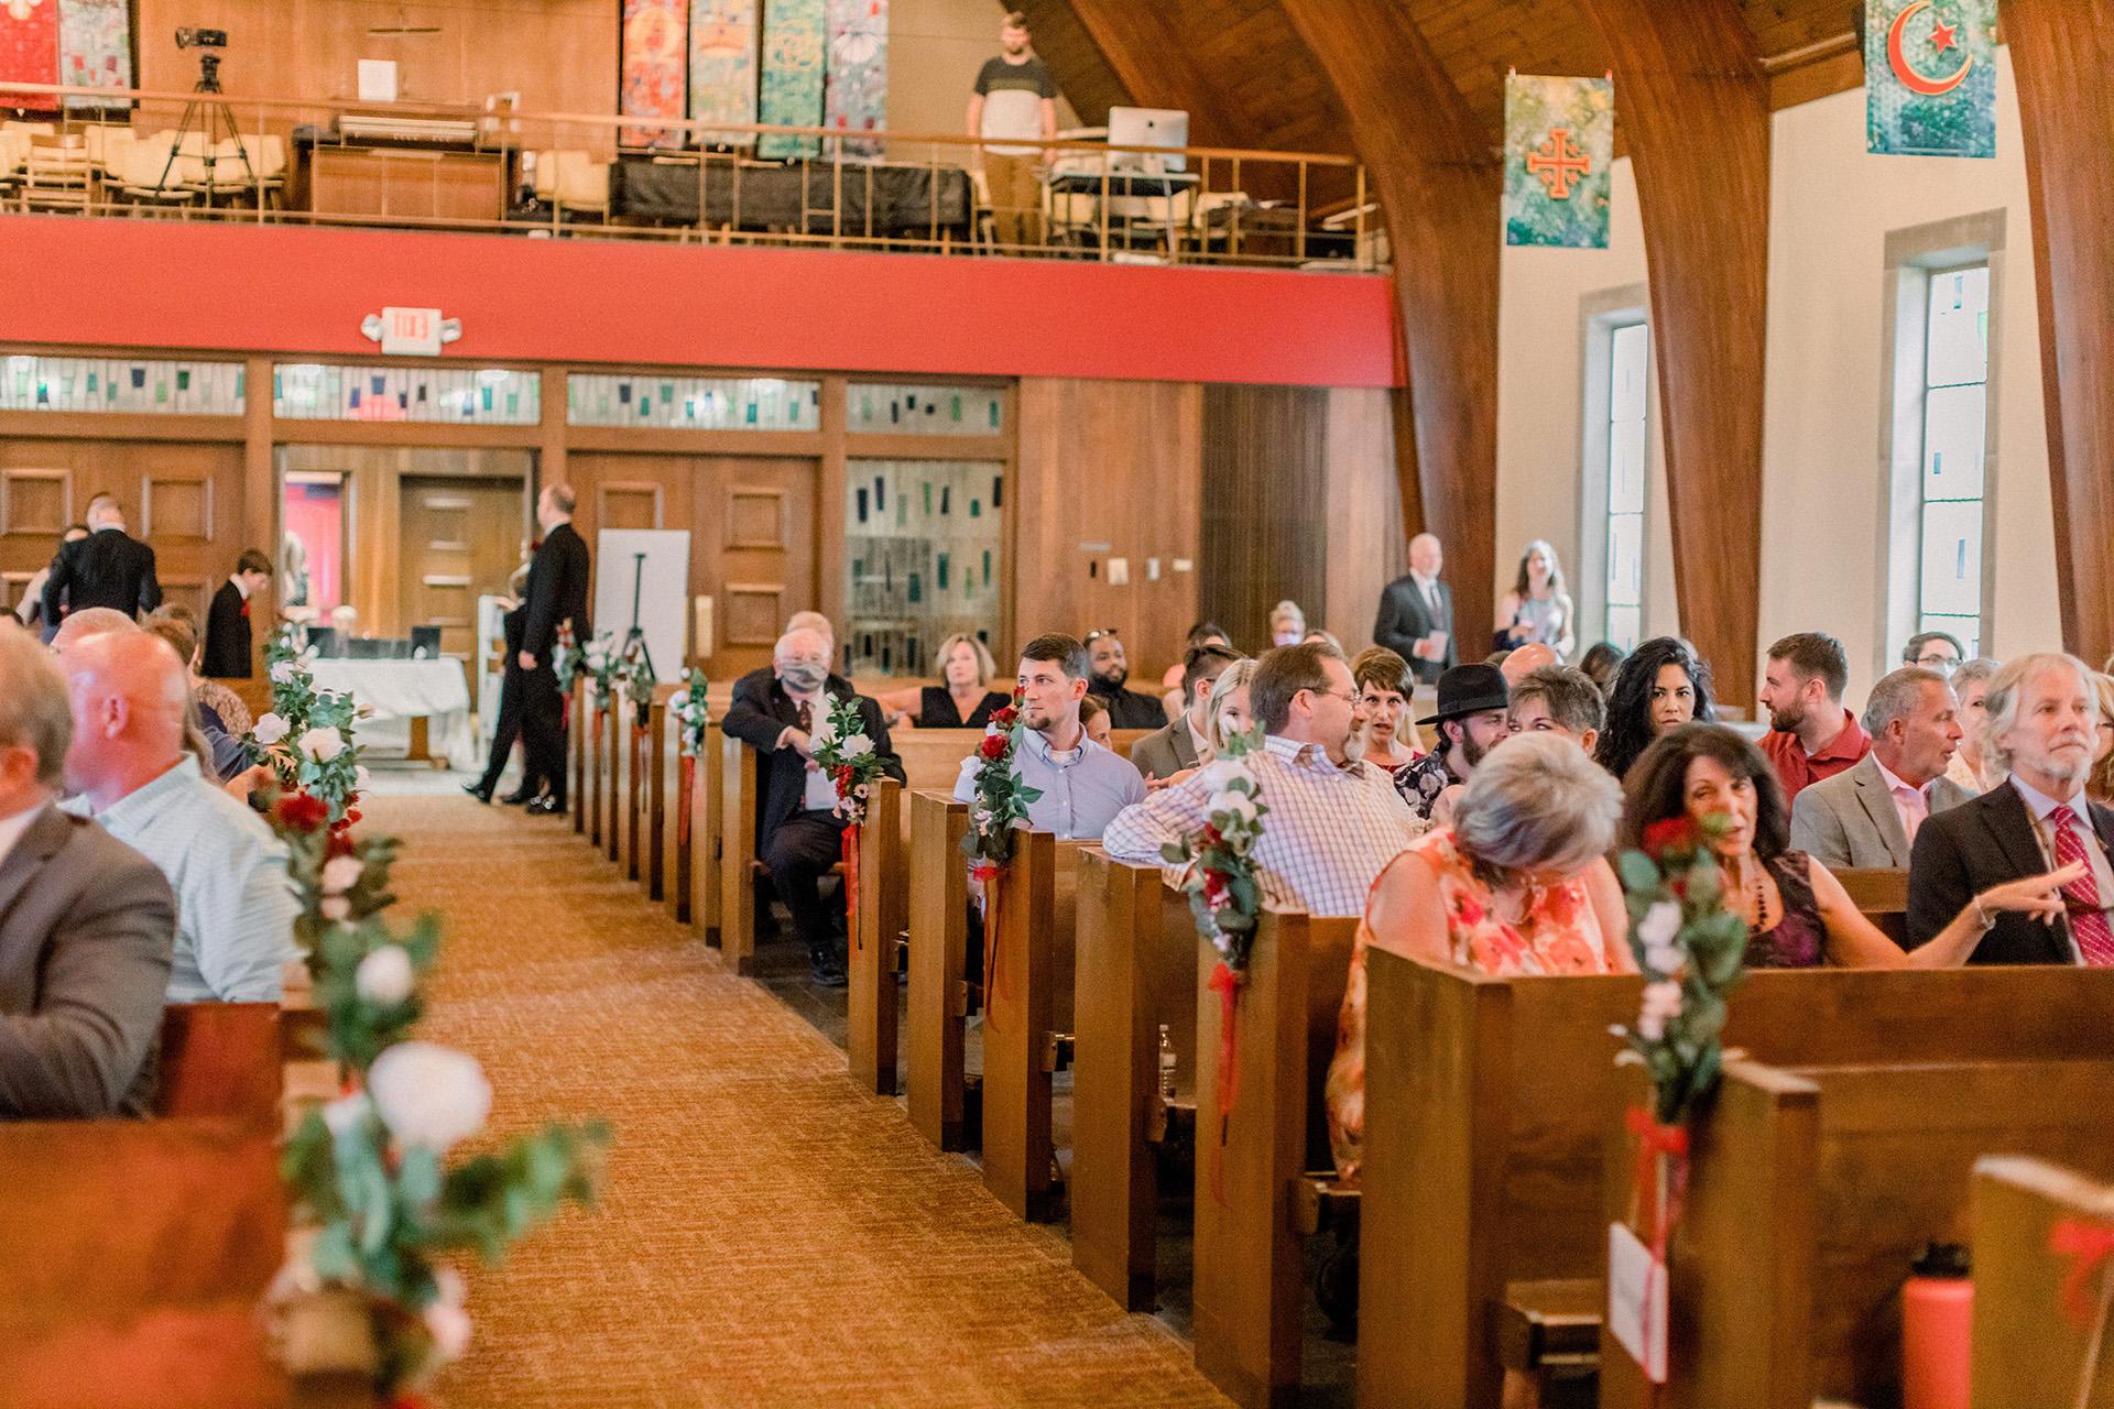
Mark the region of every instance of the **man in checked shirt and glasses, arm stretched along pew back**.
<instances>
[{"instance_id":1,"label":"man in checked shirt and glasses, arm stretched along pew back","mask_svg":"<svg viewBox=\"0 0 2114 1409\"><path fill-rule=\"evenodd\" d=\"M1364 710L1351 665L1328 642L1281 646L1256 665L1247 701L1264 731L1264 752L1245 758L1268 809L1256 841L1264 900L1311 915L1364 915L1374 877L1425 824L1385 769L1349 752ZM1125 862L1158 862L1163 843L1205 824L1207 801L1232 767L1220 758L1125 807L1101 845Z\"/></svg>"}]
</instances>

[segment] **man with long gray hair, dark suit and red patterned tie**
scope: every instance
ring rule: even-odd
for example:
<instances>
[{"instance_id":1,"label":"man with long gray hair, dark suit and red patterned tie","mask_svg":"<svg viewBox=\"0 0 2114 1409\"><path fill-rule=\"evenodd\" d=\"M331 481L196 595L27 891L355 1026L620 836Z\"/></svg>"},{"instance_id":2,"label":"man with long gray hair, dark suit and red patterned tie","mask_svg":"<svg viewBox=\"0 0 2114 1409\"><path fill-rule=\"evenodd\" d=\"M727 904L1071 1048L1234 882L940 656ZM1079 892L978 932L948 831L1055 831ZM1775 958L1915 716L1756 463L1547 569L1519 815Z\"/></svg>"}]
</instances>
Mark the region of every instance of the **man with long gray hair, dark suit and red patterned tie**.
<instances>
[{"instance_id":1,"label":"man with long gray hair, dark suit and red patterned tie","mask_svg":"<svg viewBox=\"0 0 2114 1409\"><path fill-rule=\"evenodd\" d=\"M1968 963L2082 963L2114 967L2114 811L2084 799L2099 701L2072 655L2027 655L1989 680L1983 756L2010 777L1934 813L1909 858L1909 946L1926 944L1962 910L1985 936ZM2063 887L2065 917L1983 908L1989 887L2080 864Z\"/></svg>"}]
</instances>

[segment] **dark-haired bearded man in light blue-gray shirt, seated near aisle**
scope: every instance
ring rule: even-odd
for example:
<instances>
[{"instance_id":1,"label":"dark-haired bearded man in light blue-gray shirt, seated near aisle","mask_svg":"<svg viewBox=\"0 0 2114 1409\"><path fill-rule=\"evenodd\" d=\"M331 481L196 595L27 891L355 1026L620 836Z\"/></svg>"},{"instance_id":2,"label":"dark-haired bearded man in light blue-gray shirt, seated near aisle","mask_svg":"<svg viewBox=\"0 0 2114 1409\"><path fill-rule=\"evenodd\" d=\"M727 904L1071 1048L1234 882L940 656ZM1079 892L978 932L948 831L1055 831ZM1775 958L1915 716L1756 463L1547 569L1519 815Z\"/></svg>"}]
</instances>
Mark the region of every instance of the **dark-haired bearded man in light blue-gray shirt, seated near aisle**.
<instances>
[{"instance_id":1,"label":"dark-haired bearded man in light blue-gray shirt, seated near aisle","mask_svg":"<svg viewBox=\"0 0 2114 1409\"><path fill-rule=\"evenodd\" d=\"M1120 649L1118 649L1118 661ZM1027 805L1027 826L1076 841L1099 841L1118 811L1146 796L1146 779L1123 754L1087 737L1078 701L1087 695L1087 646L1070 636L1036 636L1021 649L1021 746L1013 775L1042 792ZM1144 699L1144 695L1139 695ZM1158 714L1158 701L1148 699ZM979 754L962 760L956 801L977 796Z\"/></svg>"}]
</instances>

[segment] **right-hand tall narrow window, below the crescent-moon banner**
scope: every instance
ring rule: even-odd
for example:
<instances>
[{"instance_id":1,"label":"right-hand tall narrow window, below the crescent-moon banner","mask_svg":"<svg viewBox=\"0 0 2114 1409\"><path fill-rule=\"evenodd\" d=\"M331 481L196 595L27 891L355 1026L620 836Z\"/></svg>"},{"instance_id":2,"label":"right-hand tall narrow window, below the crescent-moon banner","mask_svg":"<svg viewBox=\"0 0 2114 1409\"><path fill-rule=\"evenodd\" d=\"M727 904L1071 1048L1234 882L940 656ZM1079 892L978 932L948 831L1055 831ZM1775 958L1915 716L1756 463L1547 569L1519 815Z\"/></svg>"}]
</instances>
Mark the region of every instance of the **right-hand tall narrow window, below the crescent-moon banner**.
<instances>
[{"instance_id":1,"label":"right-hand tall narrow window, below the crescent-moon banner","mask_svg":"<svg viewBox=\"0 0 2114 1409\"><path fill-rule=\"evenodd\" d=\"M1930 275L1924 323L1924 505L1917 632L1983 632L1983 456L1989 414L1989 266Z\"/></svg>"}]
</instances>

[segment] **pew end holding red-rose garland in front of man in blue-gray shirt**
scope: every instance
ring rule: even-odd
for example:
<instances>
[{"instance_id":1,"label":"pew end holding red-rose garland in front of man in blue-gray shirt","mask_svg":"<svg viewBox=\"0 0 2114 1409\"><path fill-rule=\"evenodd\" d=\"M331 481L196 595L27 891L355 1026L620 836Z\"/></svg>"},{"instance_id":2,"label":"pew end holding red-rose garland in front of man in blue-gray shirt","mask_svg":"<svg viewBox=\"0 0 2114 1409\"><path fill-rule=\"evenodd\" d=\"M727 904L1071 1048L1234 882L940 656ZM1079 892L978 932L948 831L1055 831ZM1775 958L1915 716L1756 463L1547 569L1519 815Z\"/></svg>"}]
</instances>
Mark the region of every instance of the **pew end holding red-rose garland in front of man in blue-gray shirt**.
<instances>
[{"instance_id":1,"label":"pew end holding red-rose garland in front of man in blue-gray shirt","mask_svg":"<svg viewBox=\"0 0 2114 1409\"><path fill-rule=\"evenodd\" d=\"M1078 858L1076 841L1019 832L1000 887L991 991L981 995L983 1187L1019 1219L1049 1219L1055 1191L1051 1077L1072 1035Z\"/></svg>"}]
</instances>

